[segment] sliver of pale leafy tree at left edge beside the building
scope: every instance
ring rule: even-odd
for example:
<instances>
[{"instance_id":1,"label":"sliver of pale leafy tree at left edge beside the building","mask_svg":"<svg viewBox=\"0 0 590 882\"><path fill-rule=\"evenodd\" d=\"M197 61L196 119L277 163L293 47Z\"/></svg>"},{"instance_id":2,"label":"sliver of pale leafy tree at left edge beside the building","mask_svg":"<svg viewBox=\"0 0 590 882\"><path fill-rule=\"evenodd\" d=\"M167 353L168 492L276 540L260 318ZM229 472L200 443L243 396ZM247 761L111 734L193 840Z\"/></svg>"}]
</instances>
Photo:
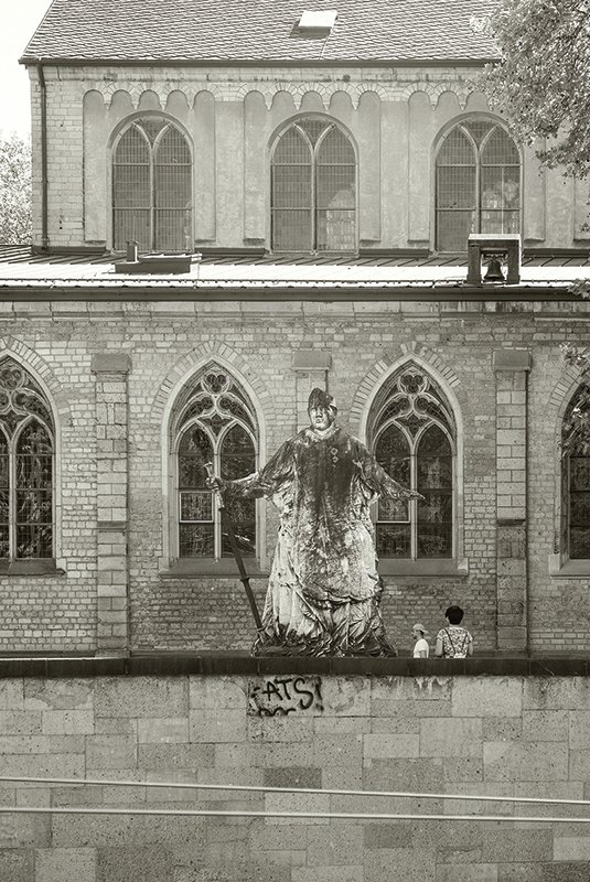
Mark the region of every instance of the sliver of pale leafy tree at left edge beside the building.
<instances>
[{"instance_id":1,"label":"sliver of pale leafy tree at left edge beside the building","mask_svg":"<svg viewBox=\"0 0 590 882\"><path fill-rule=\"evenodd\" d=\"M31 241L31 146L12 133L0 139L0 244Z\"/></svg>"}]
</instances>

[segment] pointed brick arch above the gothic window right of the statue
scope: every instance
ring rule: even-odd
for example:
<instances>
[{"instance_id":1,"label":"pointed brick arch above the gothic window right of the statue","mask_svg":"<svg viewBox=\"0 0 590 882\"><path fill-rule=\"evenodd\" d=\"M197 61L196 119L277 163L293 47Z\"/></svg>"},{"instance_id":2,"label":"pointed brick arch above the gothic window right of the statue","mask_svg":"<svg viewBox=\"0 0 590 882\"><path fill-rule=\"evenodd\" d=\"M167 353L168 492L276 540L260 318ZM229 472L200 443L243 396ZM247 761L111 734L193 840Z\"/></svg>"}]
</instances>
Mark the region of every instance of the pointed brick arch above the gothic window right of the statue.
<instances>
[{"instance_id":1,"label":"pointed brick arch above the gothic window right of the statue","mask_svg":"<svg viewBox=\"0 0 590 882\"><path fill-rule=\"evenodd\" d=\"M371 405L377 391L394 372L410 362L422 365L433 375L435 379L440 383L455 413L459 432L461 408L466 402L466 395L461 385L461 380L454 370L449 367L436 352L432 352L432 349L429 349L427 346L416 341L403 343L398 352L390 351L385 353L361 381L351 407L351 426L353 427L353 431L356 430L361 437L364 437Z\"/></svg>"}]
</instances>

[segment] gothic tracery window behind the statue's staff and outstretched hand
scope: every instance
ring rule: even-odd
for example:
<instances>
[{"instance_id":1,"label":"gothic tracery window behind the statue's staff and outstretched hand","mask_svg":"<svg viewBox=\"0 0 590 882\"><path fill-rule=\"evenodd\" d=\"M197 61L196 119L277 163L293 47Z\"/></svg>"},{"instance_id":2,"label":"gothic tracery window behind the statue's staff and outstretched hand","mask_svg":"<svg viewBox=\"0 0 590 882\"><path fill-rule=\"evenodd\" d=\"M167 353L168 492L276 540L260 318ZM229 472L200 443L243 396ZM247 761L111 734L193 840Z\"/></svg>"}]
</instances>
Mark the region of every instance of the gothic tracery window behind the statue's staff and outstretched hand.
<instances>
[{"instance_id":1,"label":"gothic tracery window behind the statue's staff and outstretched hand","mask_svg":"<svg viewBox=\"0 0 590 882\"><path fill-rule=\"evenodd\" d=\"M205 485L205 463L211 463L214 473L227 480L256 471L254 408L224 368L210 365L181 395L172 431L178 480L178 556L232 557L215 495ZM254 557L255 501L229 498L226 507L242 553Z\"/></svg>"}]
</instances>

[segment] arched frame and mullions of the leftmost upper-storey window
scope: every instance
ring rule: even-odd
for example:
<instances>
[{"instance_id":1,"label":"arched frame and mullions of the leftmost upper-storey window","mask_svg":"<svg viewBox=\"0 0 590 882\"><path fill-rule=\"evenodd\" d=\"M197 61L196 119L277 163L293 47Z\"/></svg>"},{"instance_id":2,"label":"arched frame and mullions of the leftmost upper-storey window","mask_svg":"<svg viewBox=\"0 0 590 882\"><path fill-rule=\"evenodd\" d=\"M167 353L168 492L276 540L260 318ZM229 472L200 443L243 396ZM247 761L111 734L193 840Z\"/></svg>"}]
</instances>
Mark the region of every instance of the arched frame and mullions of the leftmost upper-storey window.
<instances>
[{"instance_id":1,"label":"arched frame and mullions of the leftmost upper-storey window","mask_svg":"<svg viewBox=\"0 0 590 882\"><path fill-rule=\"evenodd\" d=\"M162 123L162 128L158 132L158 135L154 137L153 143L150 142L149 137L147 136L146 130L142 127L142 122L149 122L149 121L159 121L159 122ZM116 196L115 187L116 187L116 183L117 183L116 182L116 174L115 174L115 169L116 169L116 165L117 165L117 162L116 162L117 151L119 149L119 146L120 146L121 140L124 139L124 137L133 127L139 131L140 136L143 138L143 141L144 141L144 143L146 143L146 146L147 146L147 148L149 150L149 205L136 206L137 211L146 211L146 212L149 213L149 224L148 224L148 226L149 226L149 237L148 237L149 238L149 243L148 243L147 246L142 246L140 244L139 250L140 251L147 251L147 252L150 252L150 251L168 251L168 252L192 251L193 250L193 243L194 243L194 207L193 207L194 206L194 148L193 148L193 143L192 143L192 140L191 140L189 133L183 128L183 126L179 122L179 120L174 119L173 117L171 117L171 116L169 116L167 114L155 112L155 111L150 111L150 110L142 110L142 111L140 110L137 114L133 114L132 116L130 116L126 120L124 120L124 122L120 123L119 127L116 129L115 135L114 135L114 137L111 138L111 141L110 141L109 165L108 165L108 168L109 168L109 175L110 175L110 185L109 185L109 192L110 192L109 228L110 228L111 246L112 246L112 248L115 250L122 250L126 247L126 241L127 240L138 240L138 237L136 235L133 235L133 230L130 230L128 233L124 230L124 233L125 233L125 236L124 236L125 243L122 243L122 240L121 241L118 240L116 212L117 211L124 211L127 206L117 206L116 205L116 197L115 197ZM185 166L189 168L189 191L190 192L186 194L187 204L185 204L185 206L183 208L181 206L165 206L165 205L158 206L158 204L157 204L157 194L158 194L158 192L161 192L161 191L158 191L155 185L154 185L155 168L158 165L158 162L155 161L157 151L158 151L158 148L161 146L161 142L164 139L165 135L168 132L172 131L172 130L178 132L178 135L180 135L182 137L183 142L184 142L184 144L185 144L185 147L186 147L186 149L189 151L189 157L190 157L190 163L176 163L179 166L180 165L185 165ZM121 163L121 164L125 164L125 163ZM169 165L170 165L170 163L169 163ZM163 164L163 166L167 168L165 164ZM178 245L178 247L174 246L174 247L170 247L170 248L162 248L162 247L159 246L159 243L158 243L158 239L157 239L157 236L155 236L155 230L157 230L155 217L157 217L157 213L158 212L164 212L164 211L168 211L168 212L174 211L174 212L179 212L179 213L180 212L184 212L184 214L185 214L184 233L182 235L182 239L183 240L180 241L181 237L179 237L178 243L175 243L175 246ZM186 216L187 216L187 218L186 218Z\"/></svg>"}]
</instances>

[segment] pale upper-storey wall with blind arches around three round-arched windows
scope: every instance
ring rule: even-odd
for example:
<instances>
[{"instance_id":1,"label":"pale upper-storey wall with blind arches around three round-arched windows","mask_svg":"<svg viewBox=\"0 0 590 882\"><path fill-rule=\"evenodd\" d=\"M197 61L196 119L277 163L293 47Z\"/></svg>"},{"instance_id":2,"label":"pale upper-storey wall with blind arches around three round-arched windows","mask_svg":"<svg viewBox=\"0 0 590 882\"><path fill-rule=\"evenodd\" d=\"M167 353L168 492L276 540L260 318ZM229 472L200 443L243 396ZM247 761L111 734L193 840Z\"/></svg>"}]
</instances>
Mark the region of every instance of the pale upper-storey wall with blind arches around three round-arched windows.
<instances>
[{"instance_id":1,"label":"pale upper-storey wall with blind arches around three round-arched windows","mask_svg":"<svg viewBox=\"0 0 590 882\"><path fill-rule=\"evenodd\" d=\"M358 161L358 238L367 248L433 246L433 154L461 116L489 111L470 92L476 68L44 67L49 238L53 248L111 247L110 152L126 120L164 112L194 157L196 247L269 247L269 149L298 114L323 114L351 133ZM31 68L33 217L41 237L41 104ZM539 172L526 149L525 241L583 245L587 192Z\"/></svg>"}]
</instances>

